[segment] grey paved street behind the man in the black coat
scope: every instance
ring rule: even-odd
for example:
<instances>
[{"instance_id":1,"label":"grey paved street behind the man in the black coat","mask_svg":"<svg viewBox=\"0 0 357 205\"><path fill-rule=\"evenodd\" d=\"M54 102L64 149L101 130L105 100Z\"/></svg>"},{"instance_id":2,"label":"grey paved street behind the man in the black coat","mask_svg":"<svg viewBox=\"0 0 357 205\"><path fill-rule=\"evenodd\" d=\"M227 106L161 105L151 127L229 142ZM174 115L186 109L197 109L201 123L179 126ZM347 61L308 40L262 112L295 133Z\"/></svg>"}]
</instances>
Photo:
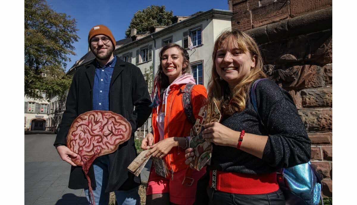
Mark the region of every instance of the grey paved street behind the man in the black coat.
<instances>
[{"instance_id":1,"label":"grey paved street behind the man in the black coat","mask_svg":"<svg viewBox=\"0 0 357 205\"><path fill-rule=\"evenodd\" d=\"M69 189L70 165L62 161L53 147L55 134L25 135L25 204L88 204L84 191ZM151 162L141 172L147 181Z\"/></svg>"}]
</instances>

